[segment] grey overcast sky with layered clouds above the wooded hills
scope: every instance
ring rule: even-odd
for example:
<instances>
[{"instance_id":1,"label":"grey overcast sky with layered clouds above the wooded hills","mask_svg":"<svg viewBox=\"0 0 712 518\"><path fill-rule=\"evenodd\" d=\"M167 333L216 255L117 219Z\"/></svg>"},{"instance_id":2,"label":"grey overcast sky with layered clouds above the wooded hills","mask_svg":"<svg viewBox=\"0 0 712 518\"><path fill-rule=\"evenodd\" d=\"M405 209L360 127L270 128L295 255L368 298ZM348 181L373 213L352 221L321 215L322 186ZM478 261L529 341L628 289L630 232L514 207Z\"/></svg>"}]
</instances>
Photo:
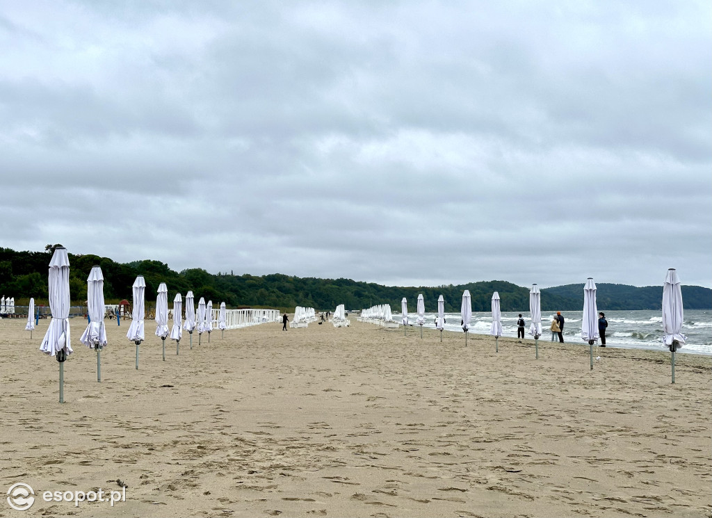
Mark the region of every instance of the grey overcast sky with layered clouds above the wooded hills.
<instances>
[{"instance_id":1,"label":"grey overcast sky with layered clouds above the wooded hills","mask_svg":"<svg viewBox=\"0 0 712 518\"><path fill-rule=\"evenodd\" d=\"M712 287L708 1L0 4L0 246Z\"/></svg>"}]
</instances>

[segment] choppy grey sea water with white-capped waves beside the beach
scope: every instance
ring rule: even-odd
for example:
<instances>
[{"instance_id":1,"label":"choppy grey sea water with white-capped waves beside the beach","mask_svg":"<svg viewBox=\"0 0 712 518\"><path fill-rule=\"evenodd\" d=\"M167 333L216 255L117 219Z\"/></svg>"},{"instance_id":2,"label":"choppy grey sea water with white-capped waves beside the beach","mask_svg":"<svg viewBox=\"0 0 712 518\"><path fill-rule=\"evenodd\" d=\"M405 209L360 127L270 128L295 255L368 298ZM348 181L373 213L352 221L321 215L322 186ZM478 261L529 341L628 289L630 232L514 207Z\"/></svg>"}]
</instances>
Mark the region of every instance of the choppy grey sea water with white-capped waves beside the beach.
<instances>
[{"instance_id":1,"label":"choppy grey sea water with white-capped waves beside the beach","mask_svg":"<svg viewBox=\"0 0 712 518\"><path fill-rule=\"evenodd\" d=\"M606 347L622 347L633 349L653 349L668 351L662 343L664 335L662 327L662 312L650 310L637 311L604 311L608 321L606 329ZM564 342L570 344L587 345L581 338L582 312L562 311L564 322ZM543 335L540 342L549 341L551 332L549 327L556 312L543 311L541 325ZM409 323L414 324L417 314L410 313ZM435 313L425 314L424 327L435 329ZM525 338L532 339L529 334L531 319L529 312L522 312L525 322ZM517 336L518 312L502 313L502 332L505 337ZM393 319L401 322L402 317L394 314ZM445 330L462 332L461 316L459 313L445 314ZM491 312L473 312L470 320L469 332L475 334L489 334L492 324ZM712 356L712 310L685 310L682 334L687 337L686 344L679 352L693 354L707 354ZM555 339L558 342L558 337ZM599 342L600 343L600 342Z\"/></svg>"}]
</instances>

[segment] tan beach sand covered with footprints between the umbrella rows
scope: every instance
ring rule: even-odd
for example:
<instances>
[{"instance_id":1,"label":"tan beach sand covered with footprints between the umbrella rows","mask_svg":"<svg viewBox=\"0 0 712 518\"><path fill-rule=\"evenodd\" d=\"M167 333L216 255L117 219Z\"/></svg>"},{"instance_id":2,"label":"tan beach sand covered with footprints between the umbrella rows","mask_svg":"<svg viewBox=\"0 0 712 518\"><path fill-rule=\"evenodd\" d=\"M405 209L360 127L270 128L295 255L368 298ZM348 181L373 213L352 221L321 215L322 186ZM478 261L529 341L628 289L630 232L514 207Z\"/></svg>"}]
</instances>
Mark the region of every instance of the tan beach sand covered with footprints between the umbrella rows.
<instances>
[{"instance_id":1,"label":"tan beach sand covered with footprints between the umbrella rows","mask_svg":"<svg viewBox=\"0 0 712 518\"><path fill-rule=\"evenodd\" d=\"M48 320L0 320L0 516L673 516L711 509L712 359L586 344L261 324L161 341L146 321L135 369L128 323L109 345L71 319L66 403L38 351ZM120 490L126 502L44 502Z\"/></svg>"}]
</instances>

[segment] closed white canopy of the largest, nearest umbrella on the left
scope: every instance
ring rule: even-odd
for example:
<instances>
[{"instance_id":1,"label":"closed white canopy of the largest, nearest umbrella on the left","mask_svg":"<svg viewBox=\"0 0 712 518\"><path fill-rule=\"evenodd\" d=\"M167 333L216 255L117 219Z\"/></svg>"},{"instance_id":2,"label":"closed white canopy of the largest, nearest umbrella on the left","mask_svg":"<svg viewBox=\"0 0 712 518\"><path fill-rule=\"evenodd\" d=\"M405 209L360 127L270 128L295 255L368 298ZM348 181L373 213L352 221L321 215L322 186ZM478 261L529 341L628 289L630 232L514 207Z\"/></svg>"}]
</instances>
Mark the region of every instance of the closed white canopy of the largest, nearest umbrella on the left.
<instances>
[{"instance_id":1,"label":"closed white canopy of the largest, nearest umbrella on the left","mask_svg":"<svg viewBox=\"0 0 712 518\"><path fill-rule=\"evenodd\" d=\"M73 353L69 332L69 255L64 247L54 250L49 263L48 287L52 319L40 351L55 356L64 349L69 355Z\"/></svg>"}]
</instances>

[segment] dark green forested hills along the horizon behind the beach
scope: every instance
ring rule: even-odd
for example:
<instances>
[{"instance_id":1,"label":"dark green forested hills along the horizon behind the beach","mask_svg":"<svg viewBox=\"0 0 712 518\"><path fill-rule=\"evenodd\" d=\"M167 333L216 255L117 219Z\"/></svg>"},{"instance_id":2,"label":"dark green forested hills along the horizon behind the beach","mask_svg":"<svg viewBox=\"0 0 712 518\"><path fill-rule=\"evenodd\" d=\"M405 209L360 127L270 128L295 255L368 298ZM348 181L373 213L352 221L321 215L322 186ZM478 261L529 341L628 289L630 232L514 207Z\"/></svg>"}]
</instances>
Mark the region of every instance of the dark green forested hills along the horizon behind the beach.
<instances>
[{"instance_id":1,"label":"dark green forested hills along the horizon behind the beach","mask_svg":"<svg viewBox=\"0 0 712 518\"><path fill-rule=\"evenodd\" d=\"M53 247L46 252L16 252L0 248L0 295L12 296L16 305L25 305L29 297L37 304L47 304L47 272ZM192 290L196 299L205 297L214 304L225 302L229 307L276 307L293 310L297 305L317 310L333 310L344 304L348 310L360 310L375 304L390 304L399 312L403 297L411 312L416 309L419 293L425 299L426 312L437 309L437 299L443 295L446 312L459 312L463 290L470 290L473 311L490 311L492 292L501 297L503 311L528 311L529 287L521 287L503 280L471 282L465 285L438 287L394 287L350 279L320 279L293 277L282 274L232 275L207 273L201 268L175 272L167 264L156 260L115 263L97 255L69 254L70 295L73 301L86 300L86 279L93 265L100 265L104 274L104 293L107 302L131 300L131 286L137 275L146 280L146 300L155 300L156 290L165 282L169 300L176 292L185 295ZM616 284L597 285L598 307L602 310L656 310L661 306L661 286L634 287ZM542 308L552 310L581 310L583 284L565 285L541 290ZM712 290L698 286L684 286L686 309L712 308Z\"/></svg>"}]
</instances>

